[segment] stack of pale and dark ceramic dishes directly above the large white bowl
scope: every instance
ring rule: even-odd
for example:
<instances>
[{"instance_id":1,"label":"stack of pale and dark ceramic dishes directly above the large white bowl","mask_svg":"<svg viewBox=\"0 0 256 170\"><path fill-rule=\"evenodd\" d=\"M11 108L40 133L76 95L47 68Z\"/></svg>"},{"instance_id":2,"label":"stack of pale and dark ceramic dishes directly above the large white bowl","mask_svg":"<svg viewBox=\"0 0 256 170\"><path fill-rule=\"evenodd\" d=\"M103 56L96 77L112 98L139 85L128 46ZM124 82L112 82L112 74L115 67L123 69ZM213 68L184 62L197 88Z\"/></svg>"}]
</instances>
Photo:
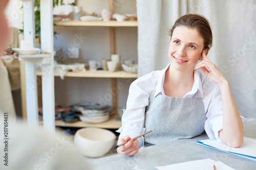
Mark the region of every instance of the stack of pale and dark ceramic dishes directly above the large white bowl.
<instances>
[{"instance_id":1,"label":"stack of pale and dark ceramic dishes directly above the large white bowl","mask_svg":"<svg viewBox=\"0 0 256 170\"><path fill-rule=\"evenodd\" d=\"M86 123L101 123L110 118L111 107L108 105L100 105L98 103L83 103L77 108L82 115L80 119Z\"/></svg>"}]
</instances>

